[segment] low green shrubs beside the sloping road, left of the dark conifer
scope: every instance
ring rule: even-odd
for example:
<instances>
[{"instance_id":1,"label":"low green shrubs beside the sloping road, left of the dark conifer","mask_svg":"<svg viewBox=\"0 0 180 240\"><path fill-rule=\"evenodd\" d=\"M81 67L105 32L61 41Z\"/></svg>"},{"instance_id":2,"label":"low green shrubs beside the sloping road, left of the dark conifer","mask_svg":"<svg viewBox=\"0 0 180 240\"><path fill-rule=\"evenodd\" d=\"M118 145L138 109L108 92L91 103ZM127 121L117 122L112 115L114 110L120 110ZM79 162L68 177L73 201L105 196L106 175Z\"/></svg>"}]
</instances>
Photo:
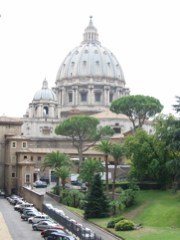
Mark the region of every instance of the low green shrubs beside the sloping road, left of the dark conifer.
<instances>
[{"instance_id":1,"label":"low green shrubs beside the sloping road, left of the dark conifer","mask_svg":"<svg viewBox=\"0 0 180 240\"><path fill-rule=\"evenodd\" d=\"M63 190L62 193L62 203L75 208L80 208L81 201L84 200L84 198L84 193L77 189L66 189Z\"/></svg>"}]
</instances>

